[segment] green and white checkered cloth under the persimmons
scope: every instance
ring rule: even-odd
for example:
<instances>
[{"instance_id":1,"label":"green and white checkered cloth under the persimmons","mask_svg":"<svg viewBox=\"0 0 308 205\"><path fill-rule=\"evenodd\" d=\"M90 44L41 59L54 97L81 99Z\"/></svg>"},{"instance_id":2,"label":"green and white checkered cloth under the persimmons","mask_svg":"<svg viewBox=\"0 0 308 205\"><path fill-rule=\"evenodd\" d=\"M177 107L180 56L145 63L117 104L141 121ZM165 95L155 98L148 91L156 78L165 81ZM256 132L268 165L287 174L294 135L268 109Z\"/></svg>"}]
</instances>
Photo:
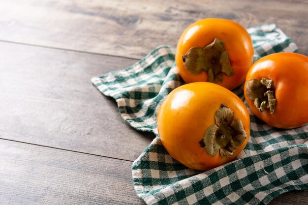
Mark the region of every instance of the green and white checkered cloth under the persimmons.
<instances>
[{"instance_id":1,"label":"green and white checkered cloth under the persimmons","mask_svg":"<svg viewBox=\"0 0 308 205\"><path fill-rule=\"evenodd\" d=\"M254 60L271 53L297 52L295 43L275 24L247 31ZM174 59L174 48L160 46L124 70L92 78L104 95L115 98L126 122L156 134L132 165L140 198L148 205L266 205L281 193L308 189L308 125L273 128L249 108L250 138L236 160L201 172L173 159L159 139L156 115L166 95L184 84ZM233 92L245 102L242 88Z\"/></svg>"}]
</instances>

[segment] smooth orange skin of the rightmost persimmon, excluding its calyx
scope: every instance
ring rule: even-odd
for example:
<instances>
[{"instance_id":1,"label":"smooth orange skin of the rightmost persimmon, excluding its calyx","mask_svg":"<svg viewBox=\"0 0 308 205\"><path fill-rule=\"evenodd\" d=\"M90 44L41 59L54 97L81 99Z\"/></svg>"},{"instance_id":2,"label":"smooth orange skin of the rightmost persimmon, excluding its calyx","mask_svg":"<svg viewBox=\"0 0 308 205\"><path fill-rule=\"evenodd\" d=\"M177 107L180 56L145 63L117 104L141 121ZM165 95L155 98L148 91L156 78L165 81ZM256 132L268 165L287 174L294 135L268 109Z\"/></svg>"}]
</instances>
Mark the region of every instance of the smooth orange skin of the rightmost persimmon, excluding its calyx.
<instances>
[{"instance_id":1,"label":"smooth orange skin of the rightmost persimmon, excluding its calyx","mask_svg":"<svg viewBox=\"0 0 308 205\"><path fill-rule=\"evenodd\" d=\"M252 78L274 81L276 109L260 112L246 95L248 106L255 116L278 128L300 127L308 123L308 57L295 53L271 54L257 60L247 73Z\"/></svg>"}]
</instances>

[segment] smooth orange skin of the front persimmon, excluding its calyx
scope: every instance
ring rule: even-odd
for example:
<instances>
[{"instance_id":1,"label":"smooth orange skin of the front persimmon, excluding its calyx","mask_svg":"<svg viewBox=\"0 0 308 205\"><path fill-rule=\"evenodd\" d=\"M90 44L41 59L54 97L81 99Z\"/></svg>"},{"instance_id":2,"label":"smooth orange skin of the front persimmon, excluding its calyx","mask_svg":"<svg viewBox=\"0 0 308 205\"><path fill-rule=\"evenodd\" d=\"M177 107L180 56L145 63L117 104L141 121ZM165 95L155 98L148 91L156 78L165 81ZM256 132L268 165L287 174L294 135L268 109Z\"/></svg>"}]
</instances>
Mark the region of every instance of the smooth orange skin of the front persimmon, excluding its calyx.
<instances>
[{"instance_id":1,"label":"smooth orange skin of the front persimmon, excluding its calyx","mask_svg":"<svg viewBox=\"0 0 308 205\"><path fill-rule=\"evenodd\" d=\"M232 157L211 156L199 142L215 124L215 113L224 104L241 119L247 138ZM210 170L233 160L246 146L250 133L245 104L230 90L213 83L198 82L174 89L162 103L157 128L163 146L180 163L195 170Z\"/></svg>"}]
</instances>

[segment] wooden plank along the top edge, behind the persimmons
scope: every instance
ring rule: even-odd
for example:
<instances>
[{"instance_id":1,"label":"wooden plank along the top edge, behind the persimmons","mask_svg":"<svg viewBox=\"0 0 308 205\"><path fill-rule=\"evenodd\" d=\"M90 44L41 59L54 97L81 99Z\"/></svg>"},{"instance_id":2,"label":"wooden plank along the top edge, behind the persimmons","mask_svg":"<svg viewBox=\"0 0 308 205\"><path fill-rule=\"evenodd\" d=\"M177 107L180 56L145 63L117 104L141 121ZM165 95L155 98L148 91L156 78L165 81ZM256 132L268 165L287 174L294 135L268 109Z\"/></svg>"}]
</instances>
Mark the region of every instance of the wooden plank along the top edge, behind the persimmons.
<instances>
[{"instance_id":1,"label":"wooden plank along the top edge, behind the persimmons","mask_svg":"<svg viewBox=\"0 0 308 205\"><path fill-rule=\"evenodd\" d=\"M142 58L203 18L276 23L308 55L307 0L1 0L0 40Z\"/></svg>"}]
</instances>

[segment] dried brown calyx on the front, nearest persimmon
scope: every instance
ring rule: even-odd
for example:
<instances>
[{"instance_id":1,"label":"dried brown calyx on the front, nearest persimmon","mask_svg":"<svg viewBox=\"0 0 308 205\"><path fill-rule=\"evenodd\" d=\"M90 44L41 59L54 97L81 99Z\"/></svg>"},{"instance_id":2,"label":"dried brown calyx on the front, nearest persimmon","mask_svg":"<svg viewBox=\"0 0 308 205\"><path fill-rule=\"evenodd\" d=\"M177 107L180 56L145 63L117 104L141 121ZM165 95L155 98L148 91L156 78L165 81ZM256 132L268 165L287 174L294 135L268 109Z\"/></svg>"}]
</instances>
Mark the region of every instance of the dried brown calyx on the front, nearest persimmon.
<instances>
[{"instance_id":1,"label":"dried brown calyx on the front, nearest persimmon","mask_svg":"<svg viewBox=\"0 0 308 205\"><path fill-rule=\"evenodd\" d=\"M246 137L242 121L234 119L232 110L222 104L216 111L215 124L208 128L200 145L212 156L219 151L221 156L231 157Z\"/></svg>"}]
</instances>

